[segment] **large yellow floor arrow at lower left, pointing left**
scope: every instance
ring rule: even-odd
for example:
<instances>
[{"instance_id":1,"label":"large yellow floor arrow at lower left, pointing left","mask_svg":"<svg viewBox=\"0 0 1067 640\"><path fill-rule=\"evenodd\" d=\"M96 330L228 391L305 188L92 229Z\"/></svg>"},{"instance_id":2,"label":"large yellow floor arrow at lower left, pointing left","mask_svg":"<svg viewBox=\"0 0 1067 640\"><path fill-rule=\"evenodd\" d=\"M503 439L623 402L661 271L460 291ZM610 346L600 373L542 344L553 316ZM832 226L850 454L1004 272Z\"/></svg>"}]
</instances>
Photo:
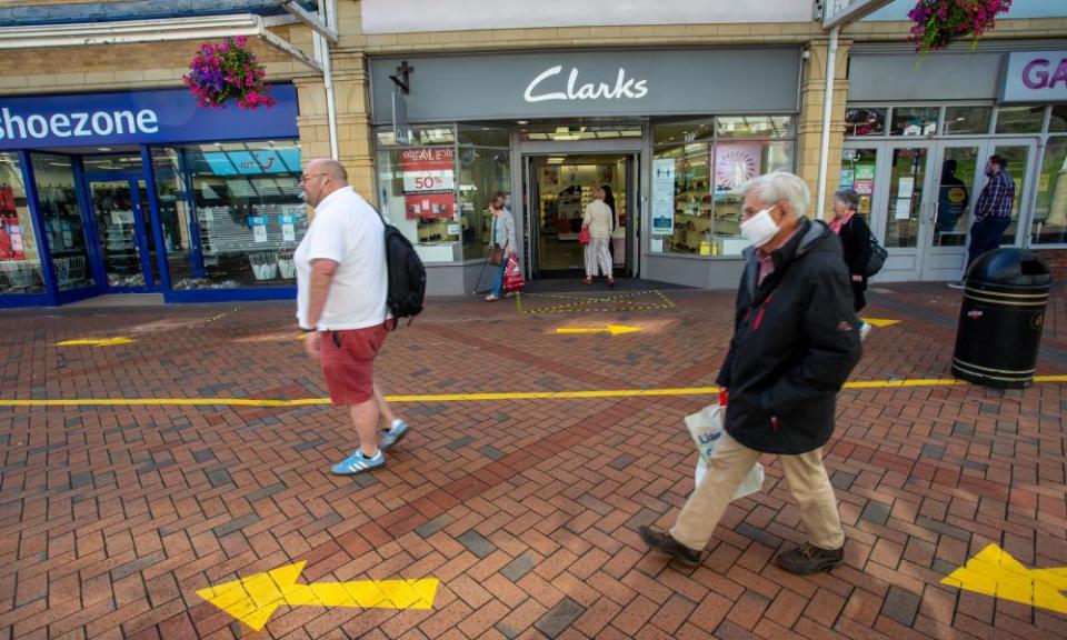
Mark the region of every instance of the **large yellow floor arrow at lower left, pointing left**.
<instances>
[{"instance_id":1,"label":"large yellow floor arrow at lower left, pointing left","mask_svg":"<svg viewBox=\"0 0 1067 640\"><path fill-rule=\"evenodd\" d=\"M431 609L439 583L436 578L425 578L297 584L305 564L297 562L200 589L197 596L259 631L282 606Z\"/></svg>"}]
</instances>

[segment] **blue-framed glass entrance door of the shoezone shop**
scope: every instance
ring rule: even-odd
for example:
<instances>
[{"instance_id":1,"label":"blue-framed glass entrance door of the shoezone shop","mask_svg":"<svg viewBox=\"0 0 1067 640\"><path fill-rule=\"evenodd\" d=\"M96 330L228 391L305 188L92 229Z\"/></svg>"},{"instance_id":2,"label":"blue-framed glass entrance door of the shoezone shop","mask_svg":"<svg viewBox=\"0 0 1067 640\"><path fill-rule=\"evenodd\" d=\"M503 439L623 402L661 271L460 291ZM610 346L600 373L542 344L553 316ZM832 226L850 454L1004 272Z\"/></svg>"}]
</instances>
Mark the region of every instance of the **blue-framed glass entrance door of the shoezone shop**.
<instances>
[{"instance_id":1,"label":"blue-framed glass entrance door of the shoezone shop","mask_svg":"<svg viewBox=\"0 0 1067 640\"><path fill-rule=\"evenodd\" d=\"M149 213L144 181L108 176L88 178L87 184L99 242L100 264L96 268L104 290L156 291L156 247L146 223Z\"/></svg>"}]
</instances>

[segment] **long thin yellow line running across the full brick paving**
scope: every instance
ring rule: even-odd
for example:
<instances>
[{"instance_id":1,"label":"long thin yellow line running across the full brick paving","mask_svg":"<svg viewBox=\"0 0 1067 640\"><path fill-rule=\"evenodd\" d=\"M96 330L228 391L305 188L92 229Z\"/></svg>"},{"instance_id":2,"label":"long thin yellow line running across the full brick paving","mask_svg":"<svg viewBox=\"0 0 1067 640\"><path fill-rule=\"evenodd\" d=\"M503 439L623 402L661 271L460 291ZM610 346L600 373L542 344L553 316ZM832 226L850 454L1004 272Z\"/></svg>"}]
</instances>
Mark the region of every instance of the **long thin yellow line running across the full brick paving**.
<instances>
[{"instance_id":1,"label":"long thin yellow line running across the full brick paving","mask_svg":"<svg viewBox=\"0 0 1067 640\"><path fill-rule=\"evenodd\" d=\"M1067 382L1067 376L1035 376L1035 384ZM845 389L898 389L903 387L968 387L964 380L857 380ZM387 396L389 402L467 402L489 400L557 400L568 398L648 398L659 396L711 396L718 387L680 387L677 389L590 389L587 391L501 391L485 393L426 393ZM0 407L118 407L118 406L200 406L200 407L307 407L329 404L329 398L268 400L255 398L63 398L57 400L3 400Z\"/></svg>"}]
</instances>

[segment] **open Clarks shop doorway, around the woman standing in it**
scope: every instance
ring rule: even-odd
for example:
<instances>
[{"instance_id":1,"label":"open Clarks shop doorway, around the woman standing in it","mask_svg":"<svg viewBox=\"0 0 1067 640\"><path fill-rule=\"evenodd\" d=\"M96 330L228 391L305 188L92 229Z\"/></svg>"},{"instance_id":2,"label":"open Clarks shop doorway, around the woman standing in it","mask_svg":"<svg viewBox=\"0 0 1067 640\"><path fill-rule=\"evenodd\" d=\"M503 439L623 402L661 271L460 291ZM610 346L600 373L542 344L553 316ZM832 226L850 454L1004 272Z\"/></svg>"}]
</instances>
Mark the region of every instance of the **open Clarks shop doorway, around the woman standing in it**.
<instances>
[{"instance_id":1,"label":"open Clarks shop doorway, around the woman standing in it","mask_svg":"<svg viewBox=\"0 0 1067 640\"><path fill-rule=\"evenodd\" d=\"M615 213L610 249L616 278L634 277L637 156L574 153L528 156L526 236L531 278L585 277L585 248L578 243L581 219L597 188Z\"/></svg>"}]
</instances>

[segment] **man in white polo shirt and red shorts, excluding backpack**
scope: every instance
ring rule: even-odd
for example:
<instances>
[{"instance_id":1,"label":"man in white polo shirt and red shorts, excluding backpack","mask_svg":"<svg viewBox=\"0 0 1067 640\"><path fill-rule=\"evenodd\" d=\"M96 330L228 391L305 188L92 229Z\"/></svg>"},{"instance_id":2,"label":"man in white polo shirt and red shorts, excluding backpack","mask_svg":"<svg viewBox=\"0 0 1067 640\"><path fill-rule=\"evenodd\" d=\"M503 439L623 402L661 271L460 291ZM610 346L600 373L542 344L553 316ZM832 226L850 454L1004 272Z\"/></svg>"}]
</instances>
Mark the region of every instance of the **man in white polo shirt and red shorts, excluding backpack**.
<instances>
[{"instance_id":1,"label":"man in white polo shirt and red shorts, excluding backpack","mask_svg":"<svg viewBox=\"0 0 1067 640\"><path fill-rule=\"evenodd\" d=\"M308 334L308 356L322 364L331 402L349 408L359 434L359 449L331 469L350 476L385 464L382 449L408 431L375 384L375 356L391 318L386 308L385 224L349 187L337 160L308 162L300 184L315 218L293 254L297 321ZM379 447L382 419L388 428Z\"/></svg>"}]
</instances>

